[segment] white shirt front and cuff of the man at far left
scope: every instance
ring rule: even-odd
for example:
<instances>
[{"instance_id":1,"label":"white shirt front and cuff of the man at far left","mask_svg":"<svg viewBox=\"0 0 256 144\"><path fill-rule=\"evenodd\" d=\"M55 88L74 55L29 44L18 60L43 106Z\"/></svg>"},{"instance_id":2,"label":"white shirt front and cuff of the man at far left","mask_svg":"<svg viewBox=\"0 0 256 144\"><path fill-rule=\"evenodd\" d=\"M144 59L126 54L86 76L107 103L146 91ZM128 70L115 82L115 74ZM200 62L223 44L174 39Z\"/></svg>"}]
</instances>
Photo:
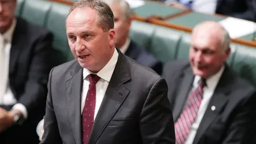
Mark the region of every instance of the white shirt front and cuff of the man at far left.
<instances>
[{"instance_id":1,"label":"white shirt front and cuff of the man at far left","mask_svg":"<svg viewBox=\"0 0 256 144\"><path fill-rule=\"evenodd\" d=\"M17 24L17 20L14 19L12 26L3 34L4 40L5 40L4 49L5 49L5 56L6 56L5 57L6 66L9 66L9 62L10 62L10 52L11 52L12 38L13 38L12 36L13 36L14 29L16 27L16 24ZM7 82L9 82L9 67L6 67L4 70L6 70L7 78L8 78ZM0 101L0 105L14 105L12 109L18 109L21 111L24 118L28 117L28 112L26 107L21 103L17 103L17 99L15 99L9 83L7 84L5 95L0 95L0 98L2 99L2 101Z\"/></svg>"}]
</instances>

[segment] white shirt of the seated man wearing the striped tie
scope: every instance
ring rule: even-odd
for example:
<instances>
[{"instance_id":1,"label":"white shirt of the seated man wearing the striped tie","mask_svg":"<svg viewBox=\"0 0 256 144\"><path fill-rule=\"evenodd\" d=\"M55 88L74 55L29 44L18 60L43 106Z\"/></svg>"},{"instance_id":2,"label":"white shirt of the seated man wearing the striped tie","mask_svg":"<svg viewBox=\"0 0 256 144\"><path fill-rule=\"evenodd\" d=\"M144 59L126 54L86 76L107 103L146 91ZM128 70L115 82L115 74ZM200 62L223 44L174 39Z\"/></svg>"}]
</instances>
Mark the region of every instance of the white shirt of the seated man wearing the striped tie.
<instances>
[{"instance_id":1,"label":"white shirt of the seated man wearing the striped tie","mask_svg":"<svg viewBox=\"0 0 256 144\"><path fill-rule=\"evenodd\" d=\"M206 85L203 88L204 94L203 99L201 101L201 105L199 106L199 109L197 111L197 116L194 121L194 123L191 125L190 132L188 133L188 138L185 142L185 144L192 144L197 132L197 129L201 123L201 120L204 116L205 110L208 107L209 101L212 98L212 94L215 91L215 88L220 80L220 77L225 69L225 66L222 66L222 68L219 70L217 74L212 75L211 77L206 79ZM194 83L193 83L193 89L196 89L198 87L198 81L201 79L200 76L195 76Z\"/></svg>"}]
</instances>

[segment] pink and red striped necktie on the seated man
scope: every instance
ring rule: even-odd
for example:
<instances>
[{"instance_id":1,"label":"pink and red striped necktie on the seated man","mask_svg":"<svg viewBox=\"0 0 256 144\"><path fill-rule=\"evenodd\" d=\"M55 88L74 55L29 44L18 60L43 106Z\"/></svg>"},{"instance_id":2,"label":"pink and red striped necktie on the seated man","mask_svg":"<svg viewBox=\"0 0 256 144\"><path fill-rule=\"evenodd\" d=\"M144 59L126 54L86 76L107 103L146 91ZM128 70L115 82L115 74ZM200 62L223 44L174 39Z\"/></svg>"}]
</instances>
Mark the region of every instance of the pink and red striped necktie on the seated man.
<instances>
[{"instance_id":1,"label":"pink and red striped necktie on the seated man","mask_svg":"<svg viewBox=\"0 0 256 144\"><path fill-rule=\"evenodd\" d=\"M198 81L198 87L190 93L180 117L174 124L176 144L183 144L187 140L191 125L195 121L197 111L203 99L203 87L205 85L205 79Z\"/></svg>"}]
</instances>

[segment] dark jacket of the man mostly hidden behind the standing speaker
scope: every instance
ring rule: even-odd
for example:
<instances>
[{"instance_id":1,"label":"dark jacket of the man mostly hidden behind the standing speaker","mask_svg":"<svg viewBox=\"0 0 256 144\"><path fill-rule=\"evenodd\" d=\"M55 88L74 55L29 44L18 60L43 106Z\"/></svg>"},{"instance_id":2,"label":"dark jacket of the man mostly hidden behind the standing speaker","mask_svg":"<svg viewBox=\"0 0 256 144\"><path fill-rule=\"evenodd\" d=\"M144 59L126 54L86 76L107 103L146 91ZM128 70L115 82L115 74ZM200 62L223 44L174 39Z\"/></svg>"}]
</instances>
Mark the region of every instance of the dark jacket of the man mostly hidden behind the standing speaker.
<instances>
[{"instance_id":1,"label":"dark jacket of the man mostly hidden behind the standing speaker","mask_svg":"<svg viewBox=\"0 0 256 144\"><path fill-rule=\"evenodd\" d=\"M131 40L131 43L125 52L125 55L136 60L144 66L155 70L157 74L161 75L163 70L163 63L158 61L153 54L148 53L143 47Z\"/></svg>"}]
</instances>

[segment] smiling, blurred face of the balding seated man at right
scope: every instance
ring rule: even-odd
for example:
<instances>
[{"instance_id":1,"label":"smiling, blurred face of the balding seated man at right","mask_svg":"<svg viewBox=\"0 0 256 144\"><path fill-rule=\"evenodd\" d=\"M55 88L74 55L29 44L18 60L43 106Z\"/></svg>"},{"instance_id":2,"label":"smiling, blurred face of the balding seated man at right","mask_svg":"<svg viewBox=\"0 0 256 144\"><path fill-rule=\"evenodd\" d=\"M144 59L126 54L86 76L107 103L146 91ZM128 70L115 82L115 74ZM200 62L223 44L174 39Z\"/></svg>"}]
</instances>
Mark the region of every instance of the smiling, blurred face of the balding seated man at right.
<instances>
[{"instance_id":1,"label":"smiling, blurred face of the balding seated man at right","mask_svg":"<svg viewBox=\"0 0 256 144\"><path fill-rule=\"evenodd\" d=\"M189 60L193 73L208 78L221 69L226 62L230 49L222 51L221 39L205 30L197 30L192 35Z\"/></svg>"}]
</instances>

